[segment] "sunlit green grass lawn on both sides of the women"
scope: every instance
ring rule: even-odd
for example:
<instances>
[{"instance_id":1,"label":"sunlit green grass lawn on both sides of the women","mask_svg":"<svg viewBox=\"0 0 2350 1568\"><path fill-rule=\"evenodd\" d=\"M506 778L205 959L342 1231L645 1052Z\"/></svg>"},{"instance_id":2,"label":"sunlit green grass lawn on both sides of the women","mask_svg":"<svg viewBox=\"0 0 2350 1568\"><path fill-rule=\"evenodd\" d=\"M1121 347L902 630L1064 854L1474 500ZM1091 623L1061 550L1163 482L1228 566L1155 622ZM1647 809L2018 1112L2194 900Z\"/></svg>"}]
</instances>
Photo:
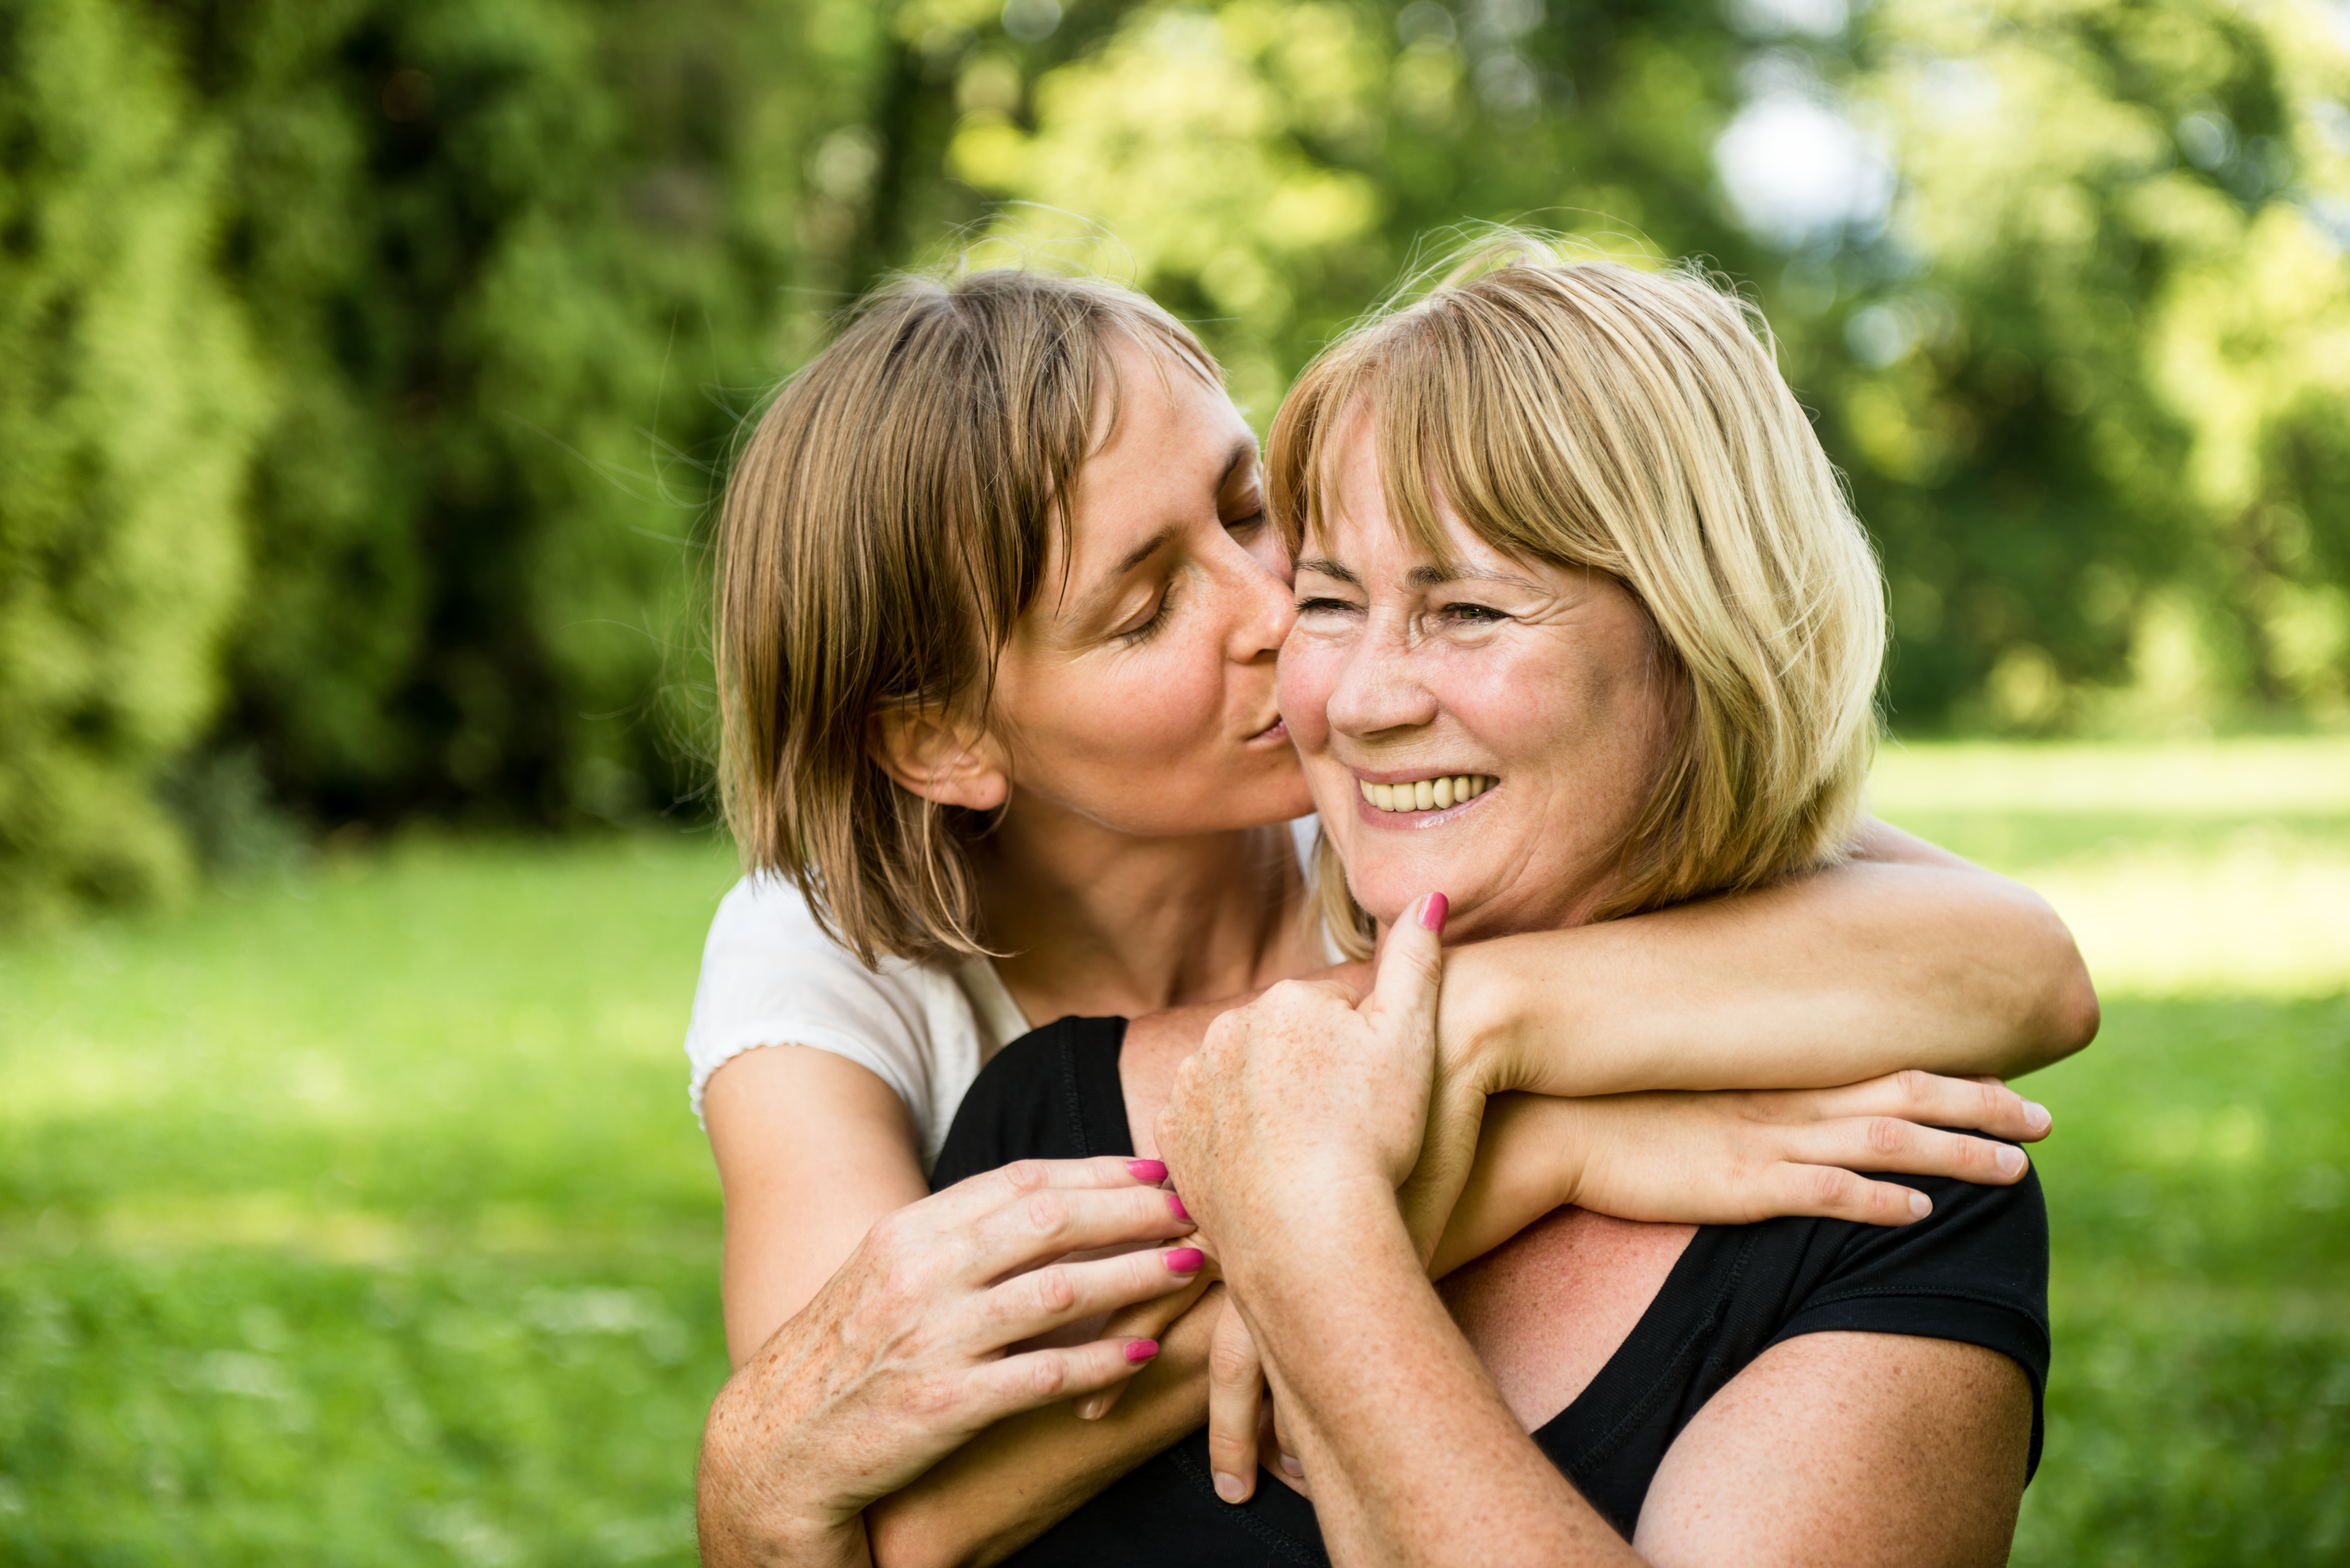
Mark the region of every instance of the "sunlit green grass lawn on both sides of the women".
<instances>
[{"instance_id":1,"label":"sunlit green grass lawn on both sides of the women","mask_svg":"<svg viewBox=\"0 0 2350 1568\"><path fill-rule=\"evenodd\" d=\"M2350 1563L2350 745L1913 748L2075 922L2019 1563ZM0 947L0 1561L691 1561L693 835L407 842Z\"/></svg>"}]
</instances>

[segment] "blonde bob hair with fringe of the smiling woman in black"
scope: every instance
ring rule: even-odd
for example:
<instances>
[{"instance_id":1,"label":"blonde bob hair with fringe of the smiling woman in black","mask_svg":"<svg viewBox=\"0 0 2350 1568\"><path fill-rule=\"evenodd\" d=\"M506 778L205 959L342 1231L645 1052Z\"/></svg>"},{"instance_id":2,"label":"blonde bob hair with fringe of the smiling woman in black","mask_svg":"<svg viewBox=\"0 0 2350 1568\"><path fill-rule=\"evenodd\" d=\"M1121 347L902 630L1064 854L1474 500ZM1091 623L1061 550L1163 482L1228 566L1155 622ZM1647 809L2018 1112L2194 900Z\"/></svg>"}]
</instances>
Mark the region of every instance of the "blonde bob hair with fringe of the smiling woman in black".
<instances>
[{"instance_id":1,"label":"blonde bob hair with fringe of the smiling woman in black","mask_svg":"<svg viewBox=\"0 0 2350 1568\"><path fill-rule=\"evenodd\" d=\"M1497 550L1605 571L1654 625L1680 715L1593 919L1845 853L1878 733L1885 590L1753 308L1687 270L1480 237L1290 390L1269 487L1292 548L1325 529L1358 416L1412 543L1443 559L1443 498ZM1361 945L1332 858L1323 914Z\"/></svg>"}]
</instances>

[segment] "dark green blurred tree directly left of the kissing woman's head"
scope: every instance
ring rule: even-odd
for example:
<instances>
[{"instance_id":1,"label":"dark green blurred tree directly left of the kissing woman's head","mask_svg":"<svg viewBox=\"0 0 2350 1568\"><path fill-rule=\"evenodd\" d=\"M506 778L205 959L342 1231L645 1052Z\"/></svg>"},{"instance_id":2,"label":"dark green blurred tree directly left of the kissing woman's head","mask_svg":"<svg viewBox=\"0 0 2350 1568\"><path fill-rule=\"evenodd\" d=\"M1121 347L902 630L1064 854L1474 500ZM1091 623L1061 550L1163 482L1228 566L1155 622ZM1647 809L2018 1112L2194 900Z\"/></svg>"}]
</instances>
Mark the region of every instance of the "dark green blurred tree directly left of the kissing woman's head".
<instances>
[{"instance_id":1,"label":"dark green blurred tree directly left of the kissing woman's head","mask_svg":"<svg viewBox=\"0 0 2350 1568\"><path fill-rule=\"evenodd\" d=\"M773 376L794 7L190 0L282 386L216 745L322 820L686 792L710 465Z\"/></svg>"}]
</instances>

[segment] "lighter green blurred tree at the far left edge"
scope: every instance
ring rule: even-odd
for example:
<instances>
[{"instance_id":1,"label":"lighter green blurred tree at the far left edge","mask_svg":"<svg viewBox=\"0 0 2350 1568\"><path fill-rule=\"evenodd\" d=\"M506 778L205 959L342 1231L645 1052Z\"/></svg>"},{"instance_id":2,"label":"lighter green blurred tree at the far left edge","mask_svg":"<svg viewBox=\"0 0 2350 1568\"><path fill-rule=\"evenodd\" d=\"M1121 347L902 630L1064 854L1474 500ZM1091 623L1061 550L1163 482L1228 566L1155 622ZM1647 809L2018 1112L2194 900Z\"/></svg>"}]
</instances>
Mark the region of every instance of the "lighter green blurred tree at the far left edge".
<instances>
[{"instance_id":1,"label":"lighter green blurred tree at the far left edge","mask_svg":"<svg viewBox=\"0 0 2350 1568\"><path fill-rule=\"evenodd\" d=\"M115 0L0 2L0 924L188 875L266 416L207 268L221 139Z\"/></svg>"}]
</instances>

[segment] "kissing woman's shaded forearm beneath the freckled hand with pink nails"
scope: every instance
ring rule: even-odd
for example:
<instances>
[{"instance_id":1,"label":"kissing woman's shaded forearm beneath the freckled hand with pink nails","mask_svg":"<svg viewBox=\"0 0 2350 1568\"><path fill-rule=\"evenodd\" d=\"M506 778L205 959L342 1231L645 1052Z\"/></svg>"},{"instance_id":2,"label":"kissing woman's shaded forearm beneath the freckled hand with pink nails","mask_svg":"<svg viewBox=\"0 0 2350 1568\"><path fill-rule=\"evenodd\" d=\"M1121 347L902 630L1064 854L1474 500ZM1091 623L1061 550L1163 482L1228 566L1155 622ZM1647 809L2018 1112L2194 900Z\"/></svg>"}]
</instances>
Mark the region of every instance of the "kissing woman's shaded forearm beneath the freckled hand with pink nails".
<instances>
[{"instance_id":1,"label":"kissing woman's shaded forearm beneath the freckled hand with pink nails","mask_svg":"<svg viewBox=\"0 0 2350 1568\"><path fill-rule=\"evenodd\" d=\"M1208 1420L1208 1338L1222 1293L1168 1328L1102 1420L1067 1403L996 1422L865 1512L881 1568L999 1563Z\"/></svg>"}]
</instances>

